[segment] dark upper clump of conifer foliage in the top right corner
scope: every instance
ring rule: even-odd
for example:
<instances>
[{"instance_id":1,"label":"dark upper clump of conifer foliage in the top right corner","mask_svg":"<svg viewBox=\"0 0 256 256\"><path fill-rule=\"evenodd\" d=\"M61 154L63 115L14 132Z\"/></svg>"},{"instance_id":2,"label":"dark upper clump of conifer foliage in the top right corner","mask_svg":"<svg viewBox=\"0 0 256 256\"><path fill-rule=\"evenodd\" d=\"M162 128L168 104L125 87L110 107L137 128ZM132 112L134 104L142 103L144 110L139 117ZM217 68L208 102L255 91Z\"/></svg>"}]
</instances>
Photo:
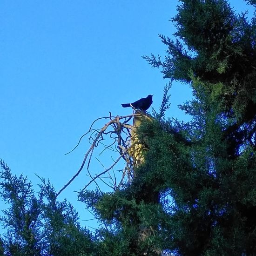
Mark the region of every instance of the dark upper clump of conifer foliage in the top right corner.
<instances>
[{"instance_id":1,"label":"dark upper clump of conifer foliage in the top right corner","mask_svg":"<svg viewBox=\"0 0 256 256\"><path fill-rule=\"evenodd\" d=\"M168 46L165 61L154 55L144 58L153 67L162 67L165 78L191 82L191 70L213 85L209 90L221 83L225 111L248 120L250 109L256 108L256 19L249 22L246 13L234 13L226 0L181 2L172 19L176 41L160 35Z\"/></svg>"}]
</instances>

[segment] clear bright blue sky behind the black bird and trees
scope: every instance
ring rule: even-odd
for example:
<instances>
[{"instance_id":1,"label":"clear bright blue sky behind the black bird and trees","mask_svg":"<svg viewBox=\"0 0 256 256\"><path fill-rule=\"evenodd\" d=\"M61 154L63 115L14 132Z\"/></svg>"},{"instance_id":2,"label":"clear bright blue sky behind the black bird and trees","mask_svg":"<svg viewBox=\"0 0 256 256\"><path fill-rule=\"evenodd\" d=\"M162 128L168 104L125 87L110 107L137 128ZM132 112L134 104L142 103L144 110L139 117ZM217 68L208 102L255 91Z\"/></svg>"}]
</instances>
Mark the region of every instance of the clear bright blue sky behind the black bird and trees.
<instances>
[{"instance_id":1,"label":"clear bright blue sky behind the black bird and trees","mask_svg":"<svg viewBox=\"0 0 256 256\"><path fill-rule=\"evenodd\" d=\"M232 0L237 11L252 10ZM171 36L177 0L1 0L0 1L0 158L12 172L36 173L56 190L77 172L89 144L72 149L94 119L127 115L121 103L154 94L158 109L168 80L141 55L164 56L158 34ZM187 85L174 83L167 115L188 120L177 108L191 99ZM101 128L104 122L99 123ZM111 152L102 156L108 167ZM103 169L94 161L91 171ZM89 181L84 170L62 192L81 215L92 216L74 190ZM93 187L91 187L93 188ZM0 207L4 208L2 202ZM95 222L83 222L94 226Z\"/></svg>"}]
</instances>

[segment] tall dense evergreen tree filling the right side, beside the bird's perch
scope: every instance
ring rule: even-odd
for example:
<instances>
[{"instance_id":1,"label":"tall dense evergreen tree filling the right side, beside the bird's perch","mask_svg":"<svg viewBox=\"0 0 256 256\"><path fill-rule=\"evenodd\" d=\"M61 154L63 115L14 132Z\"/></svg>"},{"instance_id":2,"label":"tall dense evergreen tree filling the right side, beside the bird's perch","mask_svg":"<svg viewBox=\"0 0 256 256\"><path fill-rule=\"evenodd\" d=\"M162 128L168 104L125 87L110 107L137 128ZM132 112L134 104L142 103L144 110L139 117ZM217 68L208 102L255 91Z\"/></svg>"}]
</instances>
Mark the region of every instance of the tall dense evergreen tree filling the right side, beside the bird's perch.
<instances>
[{"instance_id":1,"label":"tall dense evergreen tree filling the right side, beside the bird's perch","mask_svg":"<svg viewBox=\"0 0 256 256\"><path fill-rule=\"evenodd\" d=\"M181 0L172 21L164 61L144 58L192 87L180 106L191 121L145 120L133 182L80 200L109 224L109 255L256 255L256 19L226 0Z\"/></svg>"}]
</instances>

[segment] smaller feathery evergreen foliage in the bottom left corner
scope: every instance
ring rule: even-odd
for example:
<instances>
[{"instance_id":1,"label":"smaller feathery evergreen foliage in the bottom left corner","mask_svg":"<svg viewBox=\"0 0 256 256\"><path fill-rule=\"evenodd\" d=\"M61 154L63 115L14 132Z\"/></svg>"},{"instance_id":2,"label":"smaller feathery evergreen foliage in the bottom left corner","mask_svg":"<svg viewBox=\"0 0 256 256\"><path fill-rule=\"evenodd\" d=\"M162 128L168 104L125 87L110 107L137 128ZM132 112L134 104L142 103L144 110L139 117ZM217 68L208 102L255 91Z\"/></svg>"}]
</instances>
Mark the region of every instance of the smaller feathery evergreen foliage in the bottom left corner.
<instances>
[{"instance_id":1,"label":"smaller feathery evergreen foliage in the bottom left corner","mask_svg":"<svg viewBox=\"0 0 256 256\"><path fill-rule=\"evenodd\" d=\"M41 179L36 196L27 177L12 175L2 160L0 165L0 195L9 206L0 217L6 228L1 255L92 255L92 236L81 228L71 204L55 201L56 193L49 182Z\"/></svg>"}]
</instances>

